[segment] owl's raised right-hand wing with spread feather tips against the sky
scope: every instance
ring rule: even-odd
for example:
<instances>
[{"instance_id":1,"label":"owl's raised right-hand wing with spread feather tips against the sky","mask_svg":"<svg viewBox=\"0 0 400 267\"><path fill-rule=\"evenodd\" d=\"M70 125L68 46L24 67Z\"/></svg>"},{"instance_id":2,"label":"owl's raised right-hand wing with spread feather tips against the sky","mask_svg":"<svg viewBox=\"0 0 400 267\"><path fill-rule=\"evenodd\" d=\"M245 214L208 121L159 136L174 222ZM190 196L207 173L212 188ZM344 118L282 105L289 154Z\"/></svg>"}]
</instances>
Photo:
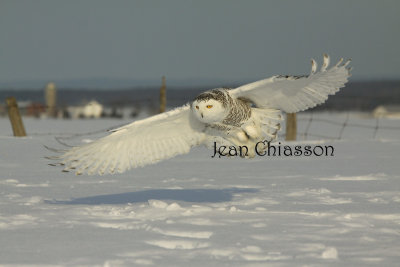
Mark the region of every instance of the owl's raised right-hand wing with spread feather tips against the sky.
<instances>
[{"instance_id":1,"label":"owl's raised right-hand wing with spread feather tips against the sky","mask_svg":"<svg viewBox=\"0 0 400 267\"><path fill-rule=\"evenodd\" d=\"M350 76L347 65L341 59L335 66L327 69L329 56L324 54L324 62L317 72L317 63L311 61L308 76L273 76L240 86L230 91L232 96L250 99L257 107L275 108L294 113L324 103L328 95L333 95L345 85Z\"/></svg>"}]
</instances>

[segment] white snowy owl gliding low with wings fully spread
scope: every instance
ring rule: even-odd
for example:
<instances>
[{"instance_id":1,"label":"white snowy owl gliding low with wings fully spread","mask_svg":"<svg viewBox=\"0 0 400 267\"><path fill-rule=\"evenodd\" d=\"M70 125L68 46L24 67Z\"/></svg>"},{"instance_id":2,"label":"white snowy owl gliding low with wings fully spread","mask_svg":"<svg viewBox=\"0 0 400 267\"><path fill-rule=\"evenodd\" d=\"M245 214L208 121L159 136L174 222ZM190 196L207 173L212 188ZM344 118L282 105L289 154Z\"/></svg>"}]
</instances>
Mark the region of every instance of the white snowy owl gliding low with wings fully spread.
<instances>
[{"instance_id":1,"label":"white snowy owl gliding low with wings fully spread","mask_svg":"<svg viewBox=\"0 0 400 267\"><path fill-rule=\"evenodd\" d=\"M281 111L294 113L324 103L350 76L350 61L328 68L311 61L307 76L277 75L235 89L217 88L191 103L135 121L94 142L73 147L51 159L76 174L121 173L185 154L194 146L254 146L276 138ZM264 148L266 149L266 147ZM246 157L254 157L249 151Z\"/></svg>"}]
</instances>

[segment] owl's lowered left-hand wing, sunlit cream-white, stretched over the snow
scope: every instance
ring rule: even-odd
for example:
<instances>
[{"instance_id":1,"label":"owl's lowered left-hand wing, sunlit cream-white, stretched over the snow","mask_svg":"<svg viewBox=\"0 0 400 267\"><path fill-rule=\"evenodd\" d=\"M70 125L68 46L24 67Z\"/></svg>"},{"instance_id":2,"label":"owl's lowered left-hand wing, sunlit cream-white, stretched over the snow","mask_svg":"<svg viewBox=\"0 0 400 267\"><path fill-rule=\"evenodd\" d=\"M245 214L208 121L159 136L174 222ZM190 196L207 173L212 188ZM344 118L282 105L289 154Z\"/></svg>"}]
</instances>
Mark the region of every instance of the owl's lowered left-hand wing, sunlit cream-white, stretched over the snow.
<instances>
[{"instance_id":1,"label":"owl's lowered left-hand wing, sunlit cream-white, stretched over the snow","mask_svg":"<svg viewBox=\"0 0 400 267\"><path fill-rule=\"evenodd\" d=\"M113 130L106 137L74 147L58 157L64 171L100 175L153 164L202 143L204 125L190 106L174 109Z\"/></svg>"}]
</instances>

